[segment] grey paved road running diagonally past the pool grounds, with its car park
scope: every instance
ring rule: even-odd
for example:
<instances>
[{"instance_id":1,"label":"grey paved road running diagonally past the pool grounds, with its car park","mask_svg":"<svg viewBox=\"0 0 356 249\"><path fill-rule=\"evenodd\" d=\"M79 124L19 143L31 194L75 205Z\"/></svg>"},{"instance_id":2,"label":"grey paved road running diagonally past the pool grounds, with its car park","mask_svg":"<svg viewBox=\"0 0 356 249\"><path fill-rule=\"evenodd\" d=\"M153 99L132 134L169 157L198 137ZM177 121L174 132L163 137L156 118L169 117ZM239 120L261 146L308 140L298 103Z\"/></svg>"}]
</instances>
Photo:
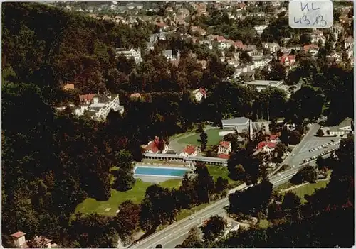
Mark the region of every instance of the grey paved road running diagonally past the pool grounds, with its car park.
<instances>
[{"instance_id":1,"label":"grey paved road running diagonally past the pool grounds, with its car park","mask_svg":"<svg viewBox=\"0 0 356 249\"><path fill-rule=\"evenodd\" d=\"M315 160L303 164L303 160L313 155L319 155L323 150L316 150L314 153L309 153L309 150L317 145L323 143L328 143L330 140L338 140L335 138L317 138L315 137L316 131L320 128L319 125L314 124L310 126L310 132L308 132L303 140L297 145L293 152L284 160L283 164L295 165L295 168L286 170L283 172L283 177L278 177L273 175L270 177L270 181L273 184L273 188L280 186L281 184L288 182L288 180L295 175L300 167L303 167L307 164L313 164ZM335 148L337 145L330 145L329 148ZM292 156L292 154L295 154ZM235 192L236 190L243 189L246 187L246 184L243 184L235 189L231 189L229 193ZM184 218L177 223L173 223L162 231L152 234L152 236L141 240L139 243L132 245L130 248L155 248L157 244L163 245L163 248L174 248L176 245L182 243L185 238L187 238L187 233L189 229L193 226L200 226L202 221L205 221L212 215L226 216L226 211L224 206L229 205L229 199L224 198L220 201L217 201L210 206L207 206L205 209L197 212L194 215L193 219L189 217Z\"/></svg>"}]
</instances>

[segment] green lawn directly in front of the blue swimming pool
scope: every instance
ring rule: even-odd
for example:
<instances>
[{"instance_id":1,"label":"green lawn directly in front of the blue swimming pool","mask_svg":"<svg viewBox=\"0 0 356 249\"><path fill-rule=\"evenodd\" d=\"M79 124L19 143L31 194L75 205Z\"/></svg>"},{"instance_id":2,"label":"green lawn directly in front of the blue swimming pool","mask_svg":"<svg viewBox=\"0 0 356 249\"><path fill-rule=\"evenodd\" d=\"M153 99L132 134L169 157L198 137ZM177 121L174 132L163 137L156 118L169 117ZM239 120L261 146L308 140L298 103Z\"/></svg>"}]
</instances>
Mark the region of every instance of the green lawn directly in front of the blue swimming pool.
<instances>
[{"instance_id":1,"label":"green lawn directly in front of the blue swimming pool","mask_svg":"<svg viewBox=\"0 0 356 249\"><path fill-rule=\"evenodd\" d=\"M167 188L178 188L182 180L171 179L166 182L162 182L160 185ZM127 200L131 200L136 204L139 204L145 197L147 187L150 187L152 183L142 182L140 179L136 179L135 186L126 191L119 192L115 189L111 190L111 197L108 201L97 201L93 198L85 199L81 204L77 206L75 212L81 212L83 214L103 214L109 216L115 216L118 206Z\"/></svg>"}]
</instances>

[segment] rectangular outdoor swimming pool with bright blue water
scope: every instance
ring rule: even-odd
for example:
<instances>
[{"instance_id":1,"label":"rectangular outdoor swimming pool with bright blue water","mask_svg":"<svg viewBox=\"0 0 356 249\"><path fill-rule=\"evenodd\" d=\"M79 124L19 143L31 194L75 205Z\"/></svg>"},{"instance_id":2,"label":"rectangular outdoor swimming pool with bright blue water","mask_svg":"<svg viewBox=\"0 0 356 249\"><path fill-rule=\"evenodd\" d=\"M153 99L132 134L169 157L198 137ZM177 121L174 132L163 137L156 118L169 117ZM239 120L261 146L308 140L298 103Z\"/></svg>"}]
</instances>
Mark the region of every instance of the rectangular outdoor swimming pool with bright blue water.
<instances>
[{"instance_id":1,"label":"rectangular outdoor swimming pool with bright blue water","mask_svg":"<svg viewBox=\"0 0 356 249\"><path fill-rule=\"evenodd\" d=\"M184 168L184 167L136 166L134 169L134 175L135 176L182 178L188 170L189 169Z\"/></svg>"}]
</instances>

